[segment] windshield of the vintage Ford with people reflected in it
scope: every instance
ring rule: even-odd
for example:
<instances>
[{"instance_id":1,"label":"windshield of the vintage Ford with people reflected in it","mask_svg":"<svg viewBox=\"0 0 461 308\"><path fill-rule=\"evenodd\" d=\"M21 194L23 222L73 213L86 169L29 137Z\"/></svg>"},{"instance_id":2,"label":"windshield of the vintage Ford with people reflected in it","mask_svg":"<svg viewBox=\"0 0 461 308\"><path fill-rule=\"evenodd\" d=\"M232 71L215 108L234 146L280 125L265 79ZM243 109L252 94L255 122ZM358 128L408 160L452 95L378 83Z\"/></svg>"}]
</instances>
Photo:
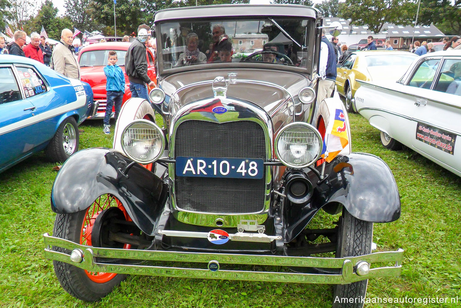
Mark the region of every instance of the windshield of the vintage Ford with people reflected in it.
<instances>
[{"instance_id":1,"label":"windshield of the vintage Ford with people reflected in it","mask_svg":"<svg viewBox=\"0 0 461 308\"><path fill-rule=\"evenodd\" d=\"M157 33L163 70L231 62L312 69L314 20L260 18L165 22ZM301 46L298 46L301 45Z\"/></svg>"}]
</instances>

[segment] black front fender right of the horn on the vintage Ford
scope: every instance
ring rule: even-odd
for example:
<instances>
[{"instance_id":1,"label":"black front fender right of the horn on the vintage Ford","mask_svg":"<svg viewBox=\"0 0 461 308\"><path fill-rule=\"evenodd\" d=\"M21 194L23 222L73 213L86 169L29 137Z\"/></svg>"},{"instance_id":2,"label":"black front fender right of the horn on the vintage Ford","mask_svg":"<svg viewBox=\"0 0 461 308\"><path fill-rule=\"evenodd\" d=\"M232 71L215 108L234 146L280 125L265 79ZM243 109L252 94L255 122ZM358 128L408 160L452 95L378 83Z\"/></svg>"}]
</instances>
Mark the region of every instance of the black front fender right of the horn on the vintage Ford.
<instances>
[{"instance_id":1,"label":"black front fender right of the horn on the vintage Ford","mask_svg":"<svg viewBox=\"0 0 461 308\"><path fill-rule=\"evenodd\" d=\"M331 170L331 189L319 194L320 203L341 203L362 221L396 221L401 212L400 196L387 164L367 153L351 153L347 158Z\"/></svg>"}]
</instances>

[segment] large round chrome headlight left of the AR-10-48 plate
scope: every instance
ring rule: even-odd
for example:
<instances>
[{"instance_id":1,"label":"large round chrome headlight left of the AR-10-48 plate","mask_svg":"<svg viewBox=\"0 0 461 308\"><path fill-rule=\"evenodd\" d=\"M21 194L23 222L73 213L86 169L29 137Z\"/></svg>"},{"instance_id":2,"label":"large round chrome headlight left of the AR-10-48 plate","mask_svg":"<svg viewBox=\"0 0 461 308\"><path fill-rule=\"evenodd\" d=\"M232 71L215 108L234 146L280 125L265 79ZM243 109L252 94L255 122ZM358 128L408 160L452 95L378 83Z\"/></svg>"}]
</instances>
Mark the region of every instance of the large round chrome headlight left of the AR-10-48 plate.
<instances>
[{"instance_id":1,"label":"large round chrome headlight left of the AR-10-48 plate","mask_svg":"<svg viewBox=\"0 0 461 308\"><path fill-rule=\"evenodd\" d=\"M165 150L165 136L162 130L148 120L131 122L123 131L121 138L124 153L136 163L152 163Z\"/></svg>"}]
</instances>

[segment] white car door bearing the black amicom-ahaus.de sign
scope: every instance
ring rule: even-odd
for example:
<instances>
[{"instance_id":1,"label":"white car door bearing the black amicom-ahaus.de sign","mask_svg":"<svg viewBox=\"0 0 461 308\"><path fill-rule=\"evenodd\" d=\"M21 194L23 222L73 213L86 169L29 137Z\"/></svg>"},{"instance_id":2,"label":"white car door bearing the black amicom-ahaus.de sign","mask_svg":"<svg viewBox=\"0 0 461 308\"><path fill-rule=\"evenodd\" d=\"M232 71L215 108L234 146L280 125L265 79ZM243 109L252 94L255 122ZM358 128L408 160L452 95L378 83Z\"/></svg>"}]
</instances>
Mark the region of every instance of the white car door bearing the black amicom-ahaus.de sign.
<instances>
[{"instance_id":1,"label":"white car door bearing the black amicom-ahaus.de sign","mask_svg":"<svg viewBox=\"0 0 461 308\"><path fill-rule=\"evenodd\" d=\"M461 57L438 60L431 93L414 102L413 146L445 168L461 172Z\"/></svg>"}]
</instances>

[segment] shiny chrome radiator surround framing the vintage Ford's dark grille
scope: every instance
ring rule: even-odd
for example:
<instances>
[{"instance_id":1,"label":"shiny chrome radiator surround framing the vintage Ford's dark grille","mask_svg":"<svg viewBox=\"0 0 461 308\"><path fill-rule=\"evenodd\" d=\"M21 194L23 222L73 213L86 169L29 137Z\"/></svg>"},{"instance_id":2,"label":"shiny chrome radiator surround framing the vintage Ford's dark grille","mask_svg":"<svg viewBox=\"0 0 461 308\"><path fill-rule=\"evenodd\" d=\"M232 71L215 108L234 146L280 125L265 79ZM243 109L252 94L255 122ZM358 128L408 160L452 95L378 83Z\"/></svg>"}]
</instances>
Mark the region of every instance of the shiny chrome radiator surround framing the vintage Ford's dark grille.
<instances>
[{"instance_id":1,"label":"shiny chrome radiator surround framing the vintage Ford's dark grille","mask_svg":"<svg viewBox=\"0 0 461 308\"><path fill-rule=\"evenodd\" d=\"M266 135L266 160L272 160L273 153L273 138L274 138L274 129L272 126L272 120L267 115L267 113L260 109L258 106L239 101L236 99L219 97L221 103L228 108L229 111L225 112L222 115L214 114L210 112L211 117L203 115L203 111L195 112L197 108L210 103L213 99L208 98L202 99L200 101L190 103L181 107L175 116L171 119L170 123L170 135L169 135L169 157L174 158L174 148L175 148L175 137L177 128L182 122L189 120L198 120L205 122L215 122L215 123L225 123L225 122L240 122L240 121L252 121L258 123ZM244 113L235 110L235 106L242 107ZM242 116L242 117L240 117ZM182 221L189 224L207 226L207 227L217 227L215 221L217 219L222 219L224 221L222 226L219 227L236 227L241 219L246 220L256 220L259 224L262 224L267 219L267 214L269 211L269 205L271 200L271 186L272 186L272 167L266 165L266 193L265 193L265 202L263 210L256 213L228 213L228 214L214 214L214 213L205 213L205 212L191 212L188 210L181 209L175 198L175 164L168 164L168 175L169 175L169 188L171 196L171 205L174 209L172 211L173 215L178 221Z\"/></svg>"}]
</instances>

